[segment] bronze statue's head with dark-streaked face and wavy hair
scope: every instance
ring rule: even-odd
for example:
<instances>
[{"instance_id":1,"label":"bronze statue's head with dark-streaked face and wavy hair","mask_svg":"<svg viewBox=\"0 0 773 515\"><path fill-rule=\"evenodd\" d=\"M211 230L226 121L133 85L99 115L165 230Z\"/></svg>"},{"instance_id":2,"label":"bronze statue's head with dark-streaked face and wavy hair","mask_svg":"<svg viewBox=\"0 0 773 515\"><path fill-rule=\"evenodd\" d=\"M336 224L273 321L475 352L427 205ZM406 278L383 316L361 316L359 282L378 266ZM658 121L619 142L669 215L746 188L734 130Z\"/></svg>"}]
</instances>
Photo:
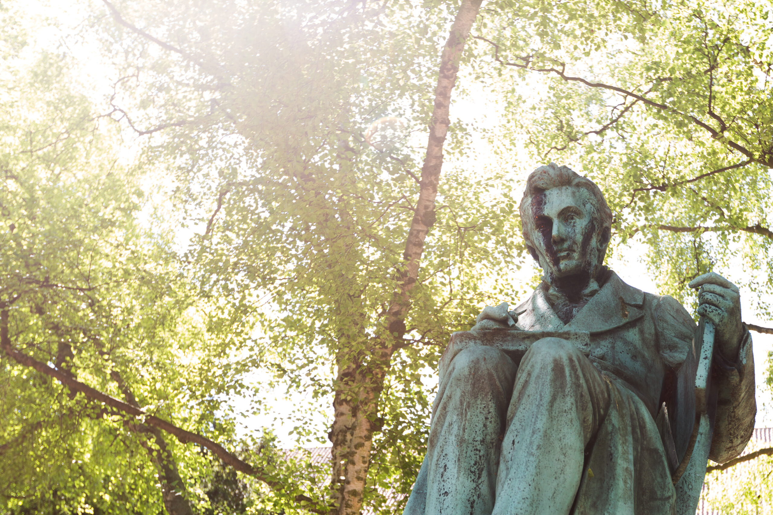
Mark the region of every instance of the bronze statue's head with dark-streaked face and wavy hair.
<instances>
[{"instance_id":1,"label":"bronze statue's head with dark-streaked face and wavy hair","mask_svg":"<svg viewBox=\"0 0 773 515\"><path fill-rule=\"evenodd\" d=\"M526 181L520 212L526 248L550 283L590 280L604 263L612 213L593 181L566 166L540 166Z\"/></svg>"}]
</instances>

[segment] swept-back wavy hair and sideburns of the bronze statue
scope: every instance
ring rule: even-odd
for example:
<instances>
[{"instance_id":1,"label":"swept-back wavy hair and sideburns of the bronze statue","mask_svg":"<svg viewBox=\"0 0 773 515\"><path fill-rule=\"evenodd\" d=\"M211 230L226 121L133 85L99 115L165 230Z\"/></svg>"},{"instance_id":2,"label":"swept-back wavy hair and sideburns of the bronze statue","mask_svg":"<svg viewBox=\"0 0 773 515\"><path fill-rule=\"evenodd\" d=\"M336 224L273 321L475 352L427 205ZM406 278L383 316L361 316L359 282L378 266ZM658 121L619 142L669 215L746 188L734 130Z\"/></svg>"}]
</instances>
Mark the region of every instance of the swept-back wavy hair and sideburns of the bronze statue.
<instances>
[{"instance_id":1,"label":"swept-back wavy hair and sideburns of the bronze statue","mask_svg":"<svg viewBox=\"0 0 773 515\"><path fill-rule=\"evenodd\" d=\"M591 205L594 209L593 216L598 222L596 230L601 236L599 241L603 242L604 245L604 249L601 252L601 260L603 261L612 229L612 212L604 199L604 194L601 193L601 189L591 179L577 174L576 171L567 166L558 166L553 162L540 166L540 168L529 174L529 178L526 179L526 191L523 192L523 199L521 199L519 206L521 229L523 230L523 239L526 240L526 246L536 259L533 251L533 242L530 238L530 232L534 229L531 198L535 194L562 186L581 188L590 194Z\"/></svg>"}]
</instances>

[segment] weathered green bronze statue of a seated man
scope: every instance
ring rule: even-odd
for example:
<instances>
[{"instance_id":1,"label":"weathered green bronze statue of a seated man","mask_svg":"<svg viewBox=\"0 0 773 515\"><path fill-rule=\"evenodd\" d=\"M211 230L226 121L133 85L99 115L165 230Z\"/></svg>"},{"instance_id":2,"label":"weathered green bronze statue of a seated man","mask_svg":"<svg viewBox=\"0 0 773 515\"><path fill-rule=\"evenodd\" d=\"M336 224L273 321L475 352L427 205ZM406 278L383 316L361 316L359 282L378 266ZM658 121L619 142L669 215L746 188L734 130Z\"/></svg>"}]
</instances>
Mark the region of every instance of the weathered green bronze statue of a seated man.
<instances>
[{"instance_id":1,"label":"weathered green bronze statue of a seated man","mask_svg":"<svg viewBox=\"0 0 773 515\"><path fill-rule=\"evenodd\" d=\"M602 265L611 211L592 181L553 163L537 168L520 213L543 281L514 310L486 307L472 331L587 331L590 351L543 337L519 362L486 345L441 360L427 456L404 515L674 513L678 462L663 399L696 324L673 297ZM754 429L754 362L737 287L716 273L690 283L699 286L697 313L716 330L709 456L721 463Z\"/></svg>"}]
</instances>

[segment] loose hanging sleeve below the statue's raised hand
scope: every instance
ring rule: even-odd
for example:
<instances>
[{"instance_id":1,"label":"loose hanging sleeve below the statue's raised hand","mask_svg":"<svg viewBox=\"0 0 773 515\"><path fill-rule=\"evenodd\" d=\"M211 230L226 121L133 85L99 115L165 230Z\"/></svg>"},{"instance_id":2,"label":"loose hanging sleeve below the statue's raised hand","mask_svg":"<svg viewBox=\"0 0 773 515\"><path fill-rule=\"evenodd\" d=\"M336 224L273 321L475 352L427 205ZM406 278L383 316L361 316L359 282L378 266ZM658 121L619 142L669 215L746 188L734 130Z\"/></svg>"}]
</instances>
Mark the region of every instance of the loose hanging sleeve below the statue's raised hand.
<instances>
[{"instance_id":1,"label":"loose hanging sleeve below the statue's raised hand","mask_svg":"<svg viewBox=\"0 0 773 515\"><path fill-rule=\"evenodd\" d=\"M754 432L754 416L757 415L754 356L751 354L751 334L745 324L736 363L714 353L713 381L718 386L717 418L709 458L724 463L743 452Z\"/></svg>"}]
</instances>

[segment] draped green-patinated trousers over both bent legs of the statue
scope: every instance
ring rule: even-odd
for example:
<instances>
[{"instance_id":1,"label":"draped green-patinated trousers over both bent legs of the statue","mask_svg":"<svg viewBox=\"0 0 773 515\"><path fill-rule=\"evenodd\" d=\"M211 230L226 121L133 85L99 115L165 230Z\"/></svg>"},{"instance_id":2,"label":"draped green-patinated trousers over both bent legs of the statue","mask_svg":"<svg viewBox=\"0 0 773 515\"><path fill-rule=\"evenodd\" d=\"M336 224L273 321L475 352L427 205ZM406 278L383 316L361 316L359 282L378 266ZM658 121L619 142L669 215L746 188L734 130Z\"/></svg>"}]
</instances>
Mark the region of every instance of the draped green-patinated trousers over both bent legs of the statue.
<instances>
[{"instance_id":1,"label":"draped green-patinated trousers over both bent legs of the statue","mask_svg":"<svg viewBox=\"0 0 773 515\"><path fill-rule=\"evenodd\" d=\"M519 367L492 347L451 361L404 515L667 515L674 498L641 399L543 338Z\"/></svg>"}]
</instances>

